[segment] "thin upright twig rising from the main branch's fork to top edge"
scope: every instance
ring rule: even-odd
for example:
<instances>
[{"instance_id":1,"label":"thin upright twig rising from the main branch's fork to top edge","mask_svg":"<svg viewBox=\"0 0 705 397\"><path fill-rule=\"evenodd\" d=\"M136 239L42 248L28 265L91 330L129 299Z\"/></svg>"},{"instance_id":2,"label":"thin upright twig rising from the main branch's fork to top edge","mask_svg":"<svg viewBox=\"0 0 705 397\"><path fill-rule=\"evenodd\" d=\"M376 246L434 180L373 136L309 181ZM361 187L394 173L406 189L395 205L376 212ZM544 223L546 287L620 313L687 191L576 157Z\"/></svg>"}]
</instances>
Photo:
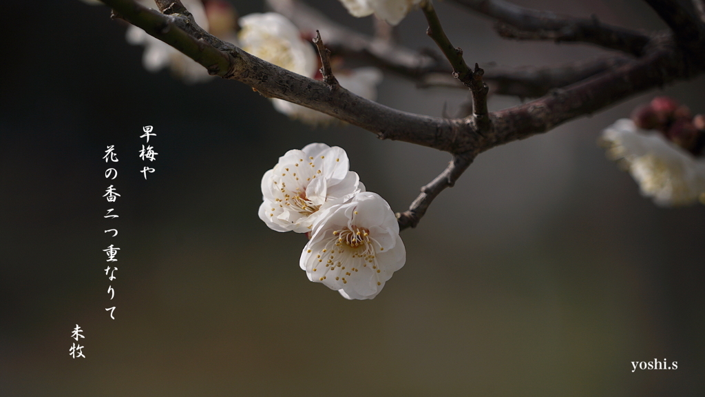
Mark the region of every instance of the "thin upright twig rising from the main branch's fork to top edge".
<instances>
[{"instance_id":1,"label":"thin upright twig rising from the main branch's fork to top edge","mask_svg":"<svg viewBox=\"0 0 705 397\"><path fill-rule=\"evenodd\" d=\"M424 11L424 16L429 23L429 28L426 34L431 37L431 39L436 42L439 46L441 52L446 56L450 66L453 67L453 76L458 78L460 82L465 84L467 88L470 88L472 93L472 114L474 116L475 122L480 129L489 128L489 112L487 110L487 85L482 81L482 75L484 71L475 64L475 69L470 69L470 67L465 64L465 59L462 58L462 49L453 47L446 36L446 32L443 31L443 26L441 26L441 21L436 14L436 9L434 8L433 1L425 0L421 4L421 9Z\"/></svg>"}]
</instances>

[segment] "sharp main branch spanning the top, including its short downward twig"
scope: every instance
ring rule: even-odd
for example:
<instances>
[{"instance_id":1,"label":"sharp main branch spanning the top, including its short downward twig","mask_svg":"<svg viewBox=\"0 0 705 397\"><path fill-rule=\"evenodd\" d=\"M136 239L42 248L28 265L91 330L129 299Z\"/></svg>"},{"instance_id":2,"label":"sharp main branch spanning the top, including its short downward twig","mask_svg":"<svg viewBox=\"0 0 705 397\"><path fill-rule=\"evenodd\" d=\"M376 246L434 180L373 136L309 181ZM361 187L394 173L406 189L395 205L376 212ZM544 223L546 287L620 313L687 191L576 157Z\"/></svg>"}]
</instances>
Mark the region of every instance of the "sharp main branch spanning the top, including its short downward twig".
<instances>
[{"instance_id":1,"label":"sharp main branch spanning the top, including its short downward twig","mask_svg":"<svg viewBox=\"0 0 705 397\"><path fill-rule=\"evenodd\" d=\"M443 189L452 186L478 153L548 131L644 90L661 87L676 79L692 78L705 69L701 58L676 45L670 35L654 36L644 57L564 89L553 90L525 105L489 114L489 128L481 130L476 117L441 119L400 112L358 97L342 87L331 90L321 81L281 69L209 35L192 21L186 11L162 15L135 4L134 0L103 1L128 22L195 59L209 73L250 85L266 97L278 97L330 114L372 131L379 138L453 153L453 162L448 169L424 186L410 210L399 215L403 227L416 225L431 201ZM178 1L171 1L165 10L176 10L178 4L175 6L175 3Z\"/></svg>"}]
</instances>

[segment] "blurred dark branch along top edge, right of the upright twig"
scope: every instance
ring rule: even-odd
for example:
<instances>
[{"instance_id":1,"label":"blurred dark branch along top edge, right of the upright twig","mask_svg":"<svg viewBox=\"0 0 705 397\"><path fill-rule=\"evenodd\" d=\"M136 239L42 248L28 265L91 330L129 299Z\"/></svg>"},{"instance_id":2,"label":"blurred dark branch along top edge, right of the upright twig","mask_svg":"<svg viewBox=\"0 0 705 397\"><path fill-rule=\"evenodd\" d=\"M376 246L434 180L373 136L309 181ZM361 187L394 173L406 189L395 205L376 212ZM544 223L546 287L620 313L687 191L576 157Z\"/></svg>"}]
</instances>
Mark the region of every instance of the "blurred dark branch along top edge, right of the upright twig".
<instances>
[{"instance_id":1,"label":"blurred dark branch along top edge, right of the upright twig","mask_svg":"<svg viewBox=\"0 0 705 397\"><path fill-rule=\"evenodd\" d=\"M600 23L597 18L562 16L515 6L503 0L455 0L467 8L497 20L497 31L503 37L556 42L587 42L609 49L644 54L649 36ZM656 1L656 0L654 0Z\"/></svg>"}]
</instances>

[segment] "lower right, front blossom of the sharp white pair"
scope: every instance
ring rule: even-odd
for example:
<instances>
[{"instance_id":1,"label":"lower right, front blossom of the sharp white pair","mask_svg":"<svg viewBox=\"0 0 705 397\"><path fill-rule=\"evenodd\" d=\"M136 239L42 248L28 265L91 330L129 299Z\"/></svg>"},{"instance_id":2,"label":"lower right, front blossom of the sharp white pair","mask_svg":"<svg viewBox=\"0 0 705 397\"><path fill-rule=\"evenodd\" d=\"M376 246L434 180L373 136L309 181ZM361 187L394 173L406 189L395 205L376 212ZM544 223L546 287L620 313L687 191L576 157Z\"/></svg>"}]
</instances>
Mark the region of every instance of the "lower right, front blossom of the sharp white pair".
<instances>
[{"instance_id":1,"label":"lower right, front blossom of the sharp white pair","mask_svg":"<svg viewBox=\"0 0 705 397\"><path fill-rule=\"evenodd\" d=\"M379 194L363 192L319 218L300 266L309 280L364 300L376 297L405 262L396 216Z\"/></svg>"}]
</instances>

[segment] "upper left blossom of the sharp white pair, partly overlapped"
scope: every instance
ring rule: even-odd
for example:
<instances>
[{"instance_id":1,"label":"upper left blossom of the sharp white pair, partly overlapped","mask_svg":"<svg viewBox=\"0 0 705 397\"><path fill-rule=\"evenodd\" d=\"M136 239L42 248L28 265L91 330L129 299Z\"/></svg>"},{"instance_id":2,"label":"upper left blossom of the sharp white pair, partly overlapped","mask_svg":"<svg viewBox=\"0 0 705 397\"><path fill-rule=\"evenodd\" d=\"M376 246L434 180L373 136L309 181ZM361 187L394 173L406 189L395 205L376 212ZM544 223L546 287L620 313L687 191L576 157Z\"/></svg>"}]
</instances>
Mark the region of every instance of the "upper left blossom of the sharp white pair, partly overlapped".
<instances>
[{"instance_id":1,"label":"upper left blossom of the sharp white pair, partly overlapped","mask_svg":"<svg viewBox=\"0 0 705 397\"><path fill-rule=\"evenodd\" d=\"M326 208L364 191L349 167L348 155L338 146L311 143L289 150L262 177L259 218L277 232L311 232Z\"/></svg>"}]
</instances>

